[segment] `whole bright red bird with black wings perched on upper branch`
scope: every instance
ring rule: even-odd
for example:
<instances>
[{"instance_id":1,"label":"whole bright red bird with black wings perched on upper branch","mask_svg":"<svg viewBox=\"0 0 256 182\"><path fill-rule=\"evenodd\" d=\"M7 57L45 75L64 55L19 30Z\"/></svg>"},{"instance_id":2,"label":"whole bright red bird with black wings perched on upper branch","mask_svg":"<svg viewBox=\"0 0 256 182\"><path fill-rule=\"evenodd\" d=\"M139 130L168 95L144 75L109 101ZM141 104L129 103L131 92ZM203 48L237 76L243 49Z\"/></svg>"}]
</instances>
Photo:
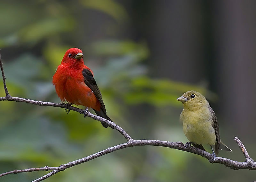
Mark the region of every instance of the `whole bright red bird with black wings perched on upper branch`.
<instances>
[{"instance_id":1,"label":"whole bright red bird with black wings perched on upper branch","mask_svg":"<svg viewBox=\"0 0 256 182\"><path fill-rule=\"evenodd\" d=\"M100 90L93 78L90 68L84 65L83 52L78 48L68 49L56 73L52 83L62 102L67 101L70 105L76 104L91 107L98 116L112 121L106 114ZM101 123L103 127L108 125Z\"/></svg>"}]
</instances>

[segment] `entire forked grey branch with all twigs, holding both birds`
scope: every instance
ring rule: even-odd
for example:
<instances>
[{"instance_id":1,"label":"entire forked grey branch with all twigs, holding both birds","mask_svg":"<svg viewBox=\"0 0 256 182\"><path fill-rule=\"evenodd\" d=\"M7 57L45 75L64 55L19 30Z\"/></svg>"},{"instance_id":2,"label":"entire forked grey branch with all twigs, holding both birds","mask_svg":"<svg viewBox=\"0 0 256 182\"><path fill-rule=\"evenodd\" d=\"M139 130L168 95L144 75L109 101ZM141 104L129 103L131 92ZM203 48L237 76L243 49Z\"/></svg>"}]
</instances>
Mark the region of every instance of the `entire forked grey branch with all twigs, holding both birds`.
<instances>
[{"instance_id":1,"label":"entire forked grey branch with all twigs, holding both birds","mask_svg":"<svg viewBox=\"0 0 256 182\"><path fill-rule=\"evenodd\" d=\"M1 54L0 54L0 67L1 67L1 71L2 71L2 76L3 76L3 81L4 81L4 91L6 96L5 97L1 97L0 101L15 101L15 102L26 102L29 104L34 104L34 105L38 105L38 106L53 106L53 107L60 107L60 108L65 108L64 104L58 104L58 103L52 103L52 102L43 102L43 101L36 101L36 100L31 100L28 98L19 98L19 97L12 97L8 90L7 90L7 86L5 84L5 76L4 76L4 70L2 67L2 61L1 61ZM79 109L77 107L73 107L70 106L69 107L70 110L72 111L76 111L78 113L81 113L83 110ZM252 158L250 158L248 152L246 151L243 143L237 138L235 137L234 140L236 140L237 144L239 145L240 149L243 151L243 154L246 158L246 160L244 162L237 162L237 161L233 161L227 158L222 158L222 157L216 157L216 160L213 160L213 156L212 154L195 148L193 146L189 146L187 148L185 148L185 145L182 142L167 142L167 141L160 141L160 140L133 140L131 138L131 136L129 136L126 131L121 128L120 126L116 125L114 122L110 122L109 120L106 120L100 116L96 116L90 112L87 112L85 114L86 116L93 118L94 120L98 120L100 122L103 122L105 124L107 124L109 127L116 129L117 131L119 131L124 138L128 141L126 143L123 144L119 144L116 145L114 147L109 147L108 149L102 150L100 152L97 152L95 154L92 154L90 156L84 157L82 159L78 159L72 162L69 162L67 164L62 164L60 165L60 167L41 167L41 168L29 168L29 169L24 169L24 170L13 170L13 171L9 171L9 172L5 172L0 174L0 177L3 177L5 175L8 174L16 174L16 173L20 173L20 172L32 172L32 171L49 171L52 170L52 172L34 180L34 182L37 181L42 181L46 178L49 178L50 176L60 172L60 171L64 171L67 168L73 167L75 165L90 161L92 159L95 159L97 157L106 155L108 153L114 152L116 150L120 150L120 149L124 149L127 147L133 147L133 146L145 146L145 145L153 145L153 146L161 146L161 147L168 147L168 148L172 148L172 149L178 149L178 150L183 150L183 151L187 151L187 152L191 152L197 155L200 155L206 159L209 160L209 162L211 163L219 163L219 164L224 164L225 166L234 169L234 170L238 170L238 169L249 169L249 170L256 170L256 162L254 162L252 160Z\"/></svg>"}]
</instances>

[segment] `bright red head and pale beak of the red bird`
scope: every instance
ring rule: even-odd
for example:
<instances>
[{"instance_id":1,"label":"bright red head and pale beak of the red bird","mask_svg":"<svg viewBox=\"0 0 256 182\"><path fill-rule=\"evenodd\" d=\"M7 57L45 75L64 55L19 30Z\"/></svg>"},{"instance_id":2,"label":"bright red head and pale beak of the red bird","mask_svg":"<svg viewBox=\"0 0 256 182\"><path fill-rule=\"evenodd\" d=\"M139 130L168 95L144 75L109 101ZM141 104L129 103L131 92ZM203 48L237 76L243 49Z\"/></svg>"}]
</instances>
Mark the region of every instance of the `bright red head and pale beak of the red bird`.
<instances>
[{"instance_id":1,"label":"bright red head and pale beak of the red bird","mask_svg":"<svg viewBox=\"0 0 256 182\"><path fill-rule=\"evenodd\" d=\"M81 62L84 64L83 56L82 50L78 48L71 48L67 50L61 63L77 64L78 62Z\"/></svg>"}]
</instances>

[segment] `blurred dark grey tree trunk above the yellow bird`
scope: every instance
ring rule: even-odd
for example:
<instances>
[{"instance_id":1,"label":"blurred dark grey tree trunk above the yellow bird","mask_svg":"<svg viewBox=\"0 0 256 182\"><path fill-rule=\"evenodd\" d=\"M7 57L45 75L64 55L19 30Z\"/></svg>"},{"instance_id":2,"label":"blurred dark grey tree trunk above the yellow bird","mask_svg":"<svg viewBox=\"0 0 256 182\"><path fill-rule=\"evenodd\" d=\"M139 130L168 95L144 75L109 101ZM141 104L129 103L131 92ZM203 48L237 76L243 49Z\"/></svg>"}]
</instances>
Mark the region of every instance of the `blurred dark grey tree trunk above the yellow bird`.
<instances>
[{"instance_id":1,"label":"blurred dark grey tree trunk above the yellow bird","mask_svg":"<svg viewBox=\"0 0 256 182\"><path fill-rule=\"evenodd\" d=\"M188 83L205 79L202 4L151 1L147 15L151 21L142 31L148 30L151 76Z\"/></svg>"}]
</instances>

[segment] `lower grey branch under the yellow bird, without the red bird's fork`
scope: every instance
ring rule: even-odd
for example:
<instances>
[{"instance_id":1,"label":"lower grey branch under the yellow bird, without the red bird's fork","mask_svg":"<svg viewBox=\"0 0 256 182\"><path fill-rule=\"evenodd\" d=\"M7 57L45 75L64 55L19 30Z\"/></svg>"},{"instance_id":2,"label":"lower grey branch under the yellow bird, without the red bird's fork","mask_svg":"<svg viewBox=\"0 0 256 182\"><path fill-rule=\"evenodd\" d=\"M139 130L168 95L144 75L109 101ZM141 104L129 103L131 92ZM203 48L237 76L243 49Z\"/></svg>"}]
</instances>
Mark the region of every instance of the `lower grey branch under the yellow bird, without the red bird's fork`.
<instances>
[{"instance_id":1,"label":"lower grey branch under the yellow bird, without the red bird's fork","mask_svg":"<svg viewBox=\"0 0 256 182\"><path fill-rule=\"evenodd\" d=\"M238 139L236 137L236 139ZM235 139L235 140L236 140ZM239 140L239 139L238 139ZM46 178L51 177L52 175L60 172L60 171L64 171L67 168L73 167L75 165L81 164L81 163L85 163L87 161L90 161L92 159L95 159L97 157L106 155L108 153L114 152L116 150L120 150L120 149L124 149L127 147L133 147L133 146L161 146L161 147L168 147L171 149L178 149L178 150L182 150L182 151L187 151L190 153L194 153L197 155L200 155L206 159L208 159L209 161L212 161L212 154L195 148L193 146L189 146L188 148L185 148L185 145L182 142L168 142L168 141L160 141L160 140L133 140L132 142L126 142L120 145L116 145L114 147L109 147L108 149L102 150L100 152L97 152L95 154L92 154L90 156L69 162L67 164L62 164L60 165L60 167L48 167L45 166L44 168L29 168L29 169L25 169L25 170L14 170L14 171L10 171L10 172L5 172L3 174L0 174L0 177L7 175L7 174L12 174L12 173L19 173L19 172L32 172L32 171L48 171L48 170L53 170L52 172L34 180L33 182L38 182L38 181L42 181ZM223 158L223 157L216 157L216 160L213 161L213 163L218 163L218 164L224 164L225 166L234 169L234 170L238 170L238 169L249 169L249 170L256 170L256 162L254 161L245 161L245 162L237 162L237 161L233 161L227 158Z\"/></svg>"}]
</instances>

